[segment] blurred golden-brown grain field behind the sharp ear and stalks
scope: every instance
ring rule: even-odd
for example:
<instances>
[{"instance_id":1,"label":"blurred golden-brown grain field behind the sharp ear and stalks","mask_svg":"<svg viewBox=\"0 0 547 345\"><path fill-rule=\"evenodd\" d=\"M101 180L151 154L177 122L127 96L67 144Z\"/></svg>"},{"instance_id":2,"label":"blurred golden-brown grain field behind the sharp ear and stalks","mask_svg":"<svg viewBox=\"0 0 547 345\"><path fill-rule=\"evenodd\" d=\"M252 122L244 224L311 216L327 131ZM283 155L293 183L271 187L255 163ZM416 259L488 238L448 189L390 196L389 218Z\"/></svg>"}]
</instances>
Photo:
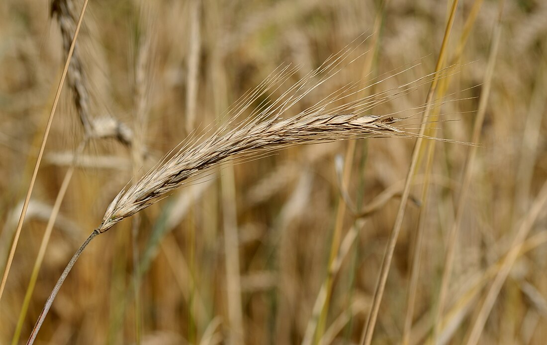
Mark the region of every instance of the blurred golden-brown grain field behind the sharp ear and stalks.
<instances>
[{"instance_id":1,"label":"blurred golden-brown grain field behind the sharp ear and stalks","mask_svg":"<svg viewBox=\"0 0 547 345\"><path fill-rule=\"evenodd\" d=\"M74 5L79 13L82 1ZM433 73L450 5L435 0L392 0L383 7L372 0L91 0L77 45L90 115L125 123L135 141L127 146L94 139L85 148L51 233L19 342L26 341L51 288L110 201L190 133L227 121L226 109L279 66L300 66L295 82L346 46L355 49L355 58L368 52L351 63L348 59L294 111L348 83L382 80L340 104ZM474 5L480 5L479 12L466 31ZM448 95L449 102L433 109L440 116L430 134L472 141L499 8L498 1L460 1L445 66L459 64L440 82L438 97ZM49 1L0 2L0 272L66 58L59 23L50 12ZM410 344L432 343L434 336L438 343L467 342L480 324L478 314L494 278L502 273L500 263L522 244L514 241L519 227L541 206L537 195L547 178L547 2L505 2L501 30L470 185L462 181L474 146L435 141L428 156L430 142L424 142L374 344L400 344L407 336ZM458 42L465 34L460 54ZM418 128L422 109L416 108L426 102L428 87L393 97L371 114L414 115L406 123ZM256 103L284 91L271 91ZM65 84L0 300L0 344L14 338L27 288L34 286L30 277L44 229L83 140L72 92ZM126 219L98 236L61 288L37 343L359 343L415 141L294 146L217 166L139 213L139 223ZM433 159L426 179L428 157ZM340 158L344 171L336 165ZM342 189L352 207L366 209L386 190L394 195L375 212L356 217L342 198L337 169L346 176ZM464 208L452 241L462 191ZM545 343L545 216L540 211L523 225L528 231L524 245L515 252L501 290L493 292L496 300L480 344ZM329 269L333 243L340 266ZM453 266L439 317L450 248ZM421 261L409 332L404 325L417 254Z\"/></svg>"}]
</instances>

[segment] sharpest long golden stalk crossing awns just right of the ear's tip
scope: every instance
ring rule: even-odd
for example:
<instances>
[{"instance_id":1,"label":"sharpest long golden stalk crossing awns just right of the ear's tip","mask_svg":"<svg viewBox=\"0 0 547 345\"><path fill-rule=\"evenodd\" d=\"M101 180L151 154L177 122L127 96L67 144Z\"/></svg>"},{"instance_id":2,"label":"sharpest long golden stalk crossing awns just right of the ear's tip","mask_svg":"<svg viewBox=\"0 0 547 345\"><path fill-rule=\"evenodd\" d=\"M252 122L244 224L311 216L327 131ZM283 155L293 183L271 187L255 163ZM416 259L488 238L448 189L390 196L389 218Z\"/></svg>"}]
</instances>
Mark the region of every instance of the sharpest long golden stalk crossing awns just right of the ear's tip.
<instances>
[{"instance_id":1,"label":"sharpest long golden stalk crossing awns just right of the ear's tip","mask_svg":"<svg viewBox=\"0 0 547 345\"><path fill-rule=\"evenodd\" d=\"M360 344L370 345L373 338L374 328L376 325L376 319L378 317L378 312L380 311L380 304L382 302L383 291L386 288L386 281L387 281L387 275L389 273L389 267L391 266L391 261L393 259L393 252L395 250L395 245L397 244L397 238L399 237L401 225L403 224L403 217L404 217L404 213L406 209L406 202L410 195L410 185L416 172L418 154L421 152L423 134L425 133L425 130L427 127L427 119L429 116L429 112L432 109L433 95L435 93L435 89L437 88L437 83L439 80L438 73L442 69L442 66L445 60L447 45L448 45L448 41L450 37L450 32L452 29L452 24L456 16L456 8L458 7L458 2L459 2L458 0L453 0L452 2L450 16L449 16L448 22L446 23L443 44L441 45L439 57L437 60L437 66L435 67L435 76L433 78L433 81L429 88L429 92L427 94L426 110L424 111L422 124L420 126L420 132L418 134L418 138L416 139L416 144L414 145L414 149L412 151L412 159L411 159L408 174L406 175L405 189L403 191L403 196L401 197L401 202L399 205L397 218L395 219L395 224L393 225L393 230L391 231L391 234L389 235L388 245L386 247L386 253L383 257L382 266L380 269L380 278L378 283L376 284L376 289L374 292L373 307L370 311L368 322L366 323L363 329Z\"/></svg>"}]
</instances>

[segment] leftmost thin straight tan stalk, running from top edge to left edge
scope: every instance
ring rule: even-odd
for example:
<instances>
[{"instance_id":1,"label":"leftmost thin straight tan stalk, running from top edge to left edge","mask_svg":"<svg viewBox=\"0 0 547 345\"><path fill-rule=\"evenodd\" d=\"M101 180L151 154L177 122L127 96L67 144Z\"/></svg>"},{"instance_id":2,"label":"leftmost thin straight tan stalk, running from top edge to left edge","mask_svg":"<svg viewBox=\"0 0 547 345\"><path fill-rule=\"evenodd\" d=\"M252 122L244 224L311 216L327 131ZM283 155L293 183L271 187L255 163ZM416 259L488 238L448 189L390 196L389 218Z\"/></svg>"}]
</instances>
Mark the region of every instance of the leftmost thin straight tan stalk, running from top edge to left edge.
<instances>
[{"instance_id":1,"label":"leftmost thin straight tan stalk, running from top edge to left edge","mask_svg":"<svg viewBox=\"0 0 547 345\"><path fill-rule=\"evenodd\" d=\"M49 113L49 120L48 123L45 126L44 130L44 139L42 139L42 145L40 146L40 151L38 152L38 158L36 159L36 165L34 165L34 171L32 172L31 182L28 186L27 195L25 197L25 202L23 203L23 209L21 211L21 216L19 217L19 223L17 224L17 230L15 230L15 237L13 239L13 243L11 244L11 250L9 252L8 261L5 266L4 275L2 277L2 282L0 283L0 300L2 300L2 295L4 293L5 283L8 280L9 270L11 268L11 263L13 262L13 257L15 255L15 248L17 248L17 244L19 242L19 236L21 235L21 229L23 227L23 221L25 220L25 216L27 214L28 210L28 203L31 200L32 195L32 189L34 188L34 182L36 182L36 176L38 175L38 168L40 167L40 163L42 162L42 157L44 155L45 150L45 143L48 140L49 136L49 130L51 129L51 123L53 122L53 116L55 115L55 109L57 109L57 103L59 103L59 98L61 96L61 90L63 85L65 84L65 79L68 72L68 66L70 64L70 60L72 57L72 53L74 52L74 47L76 45L76 39L78 38L78 33L80 32L80 27L82 26L82 21L84 20L84 13L85 9L88 6L88 1L84 1L84 5L82 6L82 11L80 12L80 17L78 18L78 23L76 25L76 30L74 31L74 38L72 39L72 44L70 46L70 49L68 50L67 59L65 62L65 67L63 68L63 73L61 74L61 80L59 81L59 86L57 86L57 92L55 93L55 98L53 100L53 105L51 106L51 111Z\"/></svg>"}]
</instances>

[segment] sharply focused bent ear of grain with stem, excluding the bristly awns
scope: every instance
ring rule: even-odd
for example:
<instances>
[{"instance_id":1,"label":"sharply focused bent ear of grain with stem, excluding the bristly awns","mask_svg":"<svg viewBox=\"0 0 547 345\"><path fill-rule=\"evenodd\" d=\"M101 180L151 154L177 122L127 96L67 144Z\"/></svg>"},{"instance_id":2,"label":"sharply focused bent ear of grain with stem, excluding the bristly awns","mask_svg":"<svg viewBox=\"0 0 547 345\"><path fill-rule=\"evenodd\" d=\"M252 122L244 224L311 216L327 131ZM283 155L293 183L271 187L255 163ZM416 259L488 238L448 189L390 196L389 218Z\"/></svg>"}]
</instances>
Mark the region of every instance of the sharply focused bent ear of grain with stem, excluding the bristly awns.
<instances>
[{"instance_id":1,"label":"sharply focused bent ear of grain with stem, excluding the bristly awns","mask_svg":"<svg viewBox=\"0 0 547 345\"><path fill-rule=\"evenodd\" d=\"M181 187L190 177L238 153L280 148L294 144L331 141L351 137L397 135L401 130L391 126L397 120L365 115L307 114L279 122L250 123L224 135L207 140L178 152L159 168L150 171L139 182L121 191L108 206L101 225L83 243L55 285L44 310L40 313L28 344L32 344L57 292L75 261L89 242L122 219L152 205L158 198Z\"/></svg>"}]
</instances>

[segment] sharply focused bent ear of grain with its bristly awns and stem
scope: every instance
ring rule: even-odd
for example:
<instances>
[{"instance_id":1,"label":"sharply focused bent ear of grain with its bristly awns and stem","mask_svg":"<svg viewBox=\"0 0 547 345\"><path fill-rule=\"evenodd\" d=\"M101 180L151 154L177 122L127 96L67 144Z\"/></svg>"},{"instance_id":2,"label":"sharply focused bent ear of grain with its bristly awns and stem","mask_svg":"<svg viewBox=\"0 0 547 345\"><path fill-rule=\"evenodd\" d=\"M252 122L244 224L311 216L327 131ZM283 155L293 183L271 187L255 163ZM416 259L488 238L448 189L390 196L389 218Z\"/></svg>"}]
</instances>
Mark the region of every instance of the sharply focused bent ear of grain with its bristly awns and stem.
<instances>
[{"instance_id":1,"label":"sharply focused bent ear of grain with its bristly awns and stem","mask_svg":"<svg viewBox=\"0 0 547 345\"><path fill-rule=\"evenodd\" d=\"M213 132L205 140L194 144L188 141L172 158L164 158L135 185L122 190L107 207L101 224L91 233L74 254L71 261L57 281L49 296L39 319L32 330L27 344L32 344L40 326L44 322L55 296L65 281L75 261L98 234L106 232L124 218L146 209L174 189L182 187L191 177L211 168L213 165L234 155L247 156L257 152L269 152L298 144L312 144L353 138L373 138L380 136L412 136L402 128L393 126L399 120L391 116L363 115L378 104L387 102L398 94L409 92L412 83L424 82L430 76L418 79L406 85L377 93L373 96L353 102L333 106L335 102L347 100L358 94L363 88L359 85L348 85L331 93L328 97L298 115L284 118L296 104L316 87L329 80L340 70L342 62L348 58L350 50L342 52L340 57L332 57L321 67L306 75L272 104L262 104L252 112L247 121L233 129L226 126ZM343 67L343 66L342 66ZM236 103L232 115L237 117L251 107L253 102L268 91L276 91L281 84L296 73L295 68L283 68L270 75L263 84L246 94ZM324 76L326 75L326 76ZM396 74L395 74L396 75ZM388 76L391 78L393 75ZM387 79L386 78L386 79ZM385 80L385 79L383 79ZM383 81L377 81L375 84ZM374 85L374 84L373 84ZM202 135L201 139L204 135Z\"/></svg>"}]
</instances>

